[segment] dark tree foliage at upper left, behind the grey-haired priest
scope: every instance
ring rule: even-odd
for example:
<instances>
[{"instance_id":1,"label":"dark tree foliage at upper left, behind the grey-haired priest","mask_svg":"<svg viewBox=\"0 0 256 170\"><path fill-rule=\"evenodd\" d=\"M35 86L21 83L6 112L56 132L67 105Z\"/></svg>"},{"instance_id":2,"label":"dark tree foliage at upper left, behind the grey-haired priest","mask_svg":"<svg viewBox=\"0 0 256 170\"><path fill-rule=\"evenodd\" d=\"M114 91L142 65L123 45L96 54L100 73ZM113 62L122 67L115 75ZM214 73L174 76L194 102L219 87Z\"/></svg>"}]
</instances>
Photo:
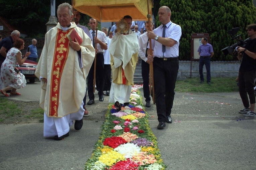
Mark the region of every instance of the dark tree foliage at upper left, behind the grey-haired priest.
<instances>
[{"instance_id":1,"label":"dark tree foliage at upper left, behind the grey-haired priest","mask_svg":"<svg viewBox=\"0 0 256 170\"><path fill-rule=\"evenodd\" d=\"M71 0L56 0L57 7L63 2L71 4ZM0 0L0 16L8 23L23 31L28 36L42 36L46 33L46 23L51 15L51 0Z\"/></svg>"}]
</instances>

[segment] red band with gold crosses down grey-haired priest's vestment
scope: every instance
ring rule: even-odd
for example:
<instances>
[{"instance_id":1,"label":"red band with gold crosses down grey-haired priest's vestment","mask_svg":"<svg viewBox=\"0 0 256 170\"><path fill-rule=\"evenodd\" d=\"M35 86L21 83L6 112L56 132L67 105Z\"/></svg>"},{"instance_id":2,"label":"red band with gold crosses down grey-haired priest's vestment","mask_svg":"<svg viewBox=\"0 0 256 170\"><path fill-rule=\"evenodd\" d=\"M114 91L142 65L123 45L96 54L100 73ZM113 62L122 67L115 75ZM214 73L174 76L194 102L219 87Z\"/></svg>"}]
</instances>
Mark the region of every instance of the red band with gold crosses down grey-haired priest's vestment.
<instances>
[{"instance_id":1,"label":"red band with gold crosses down grey-haired priest's vestment","mask_svg":"<svg viewBox=\"0 0 256 170\"><path fill-rule=\"evenodd\" d=\"M61 75L69 53L69 40L67 34L71 29L63 31L58 29L55 52L52 66L52 79L51 79L51 94L50 94L50 109L49 116L58 117L59 108L59 93Z\"/></svg>"}]
</instances>

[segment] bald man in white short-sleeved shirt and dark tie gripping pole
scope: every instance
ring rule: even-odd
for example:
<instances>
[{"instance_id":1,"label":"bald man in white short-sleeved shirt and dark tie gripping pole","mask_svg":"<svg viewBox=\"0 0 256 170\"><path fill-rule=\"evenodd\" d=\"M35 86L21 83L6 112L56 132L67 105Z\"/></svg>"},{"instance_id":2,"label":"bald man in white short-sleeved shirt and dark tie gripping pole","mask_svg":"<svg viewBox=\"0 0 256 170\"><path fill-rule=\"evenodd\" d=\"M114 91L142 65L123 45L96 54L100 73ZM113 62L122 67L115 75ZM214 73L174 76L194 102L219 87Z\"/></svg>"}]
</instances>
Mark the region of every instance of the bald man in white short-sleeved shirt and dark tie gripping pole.
<instances>
[{"instance_id":1,"label":"bald man in white short-sleeved shirt and dark tie gripping pole","mask_svg":"<svg viewBox=\"0 0 256 170\"><path fill-rule=\"evenodd\" d=\"M162 6L158 11L162 24L153 31L147 30L152 40L153 56L148 50L148 63L153 62L156 108L159 125L165 127L165 122L172 123L171 110L174 100L174 89L179 69L179 40L181 27L171 22L171 10ZM148 45L149 48L149 45Z\"/></svg>"}]
</instances>

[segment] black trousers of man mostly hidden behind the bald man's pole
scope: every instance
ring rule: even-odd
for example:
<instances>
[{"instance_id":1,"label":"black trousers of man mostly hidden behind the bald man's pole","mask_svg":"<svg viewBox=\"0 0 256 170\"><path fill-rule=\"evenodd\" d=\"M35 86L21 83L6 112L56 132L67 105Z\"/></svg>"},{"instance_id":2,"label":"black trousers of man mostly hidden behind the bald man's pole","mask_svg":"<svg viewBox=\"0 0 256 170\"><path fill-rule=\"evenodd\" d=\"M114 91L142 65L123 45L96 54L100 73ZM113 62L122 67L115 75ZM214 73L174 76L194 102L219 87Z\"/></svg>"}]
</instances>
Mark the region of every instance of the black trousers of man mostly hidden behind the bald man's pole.
<instances>
[{"instance_id":1,"label":"black trousers of man mostly hidden behind the bald man's pole","mask_svg":"<svg viewBox=\"0 0 256 170\"><path fill-rule=\"evenodd\" d=\"M141 74L143 79L143 94L146 102L150 102L149 94L149 64L144 60L141 61Z\"/></svg>"}]
</instances>

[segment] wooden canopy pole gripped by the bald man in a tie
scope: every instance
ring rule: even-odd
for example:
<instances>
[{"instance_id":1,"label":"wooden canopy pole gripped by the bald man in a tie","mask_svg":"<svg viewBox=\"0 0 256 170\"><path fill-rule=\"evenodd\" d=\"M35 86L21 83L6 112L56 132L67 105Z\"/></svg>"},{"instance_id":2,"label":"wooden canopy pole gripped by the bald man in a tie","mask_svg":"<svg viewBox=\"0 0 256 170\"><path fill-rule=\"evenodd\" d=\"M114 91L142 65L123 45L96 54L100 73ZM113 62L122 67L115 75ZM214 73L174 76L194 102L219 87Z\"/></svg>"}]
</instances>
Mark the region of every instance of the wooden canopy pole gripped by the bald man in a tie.
<instances>
[{"instance_id":1,"label":"wooden canopy pole gripped by the bald man in a tie","mask_svg":"<svg viewBox=\"0 0 256 170\"><path fill-rule=\"evenodd\" d=\"M151 14L150 14L150 10L149 10L149 0L147 0L148 2L148 24L149 27L151 29L151 22L150 22L150 18L151 18ZM152 55L152 43L151 43L151 39L149 39L149 49L150 49L150 55ZM151 62L149 64L149 92L152 95L153 98L153 104L155 104L155 86L154 86L154 71L153 71L153 62Z\"/></svg>"}]
</instances>

